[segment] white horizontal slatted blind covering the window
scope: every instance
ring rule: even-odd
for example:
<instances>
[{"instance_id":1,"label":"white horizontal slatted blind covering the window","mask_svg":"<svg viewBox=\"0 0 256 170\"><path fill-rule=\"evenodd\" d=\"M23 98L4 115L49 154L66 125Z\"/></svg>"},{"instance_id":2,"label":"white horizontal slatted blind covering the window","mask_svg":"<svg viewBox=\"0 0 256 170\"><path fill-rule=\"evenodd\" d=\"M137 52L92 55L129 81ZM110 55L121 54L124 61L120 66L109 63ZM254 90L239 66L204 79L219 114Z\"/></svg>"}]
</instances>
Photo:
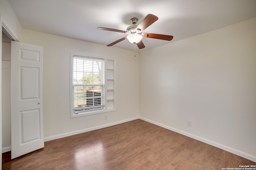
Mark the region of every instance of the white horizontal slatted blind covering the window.
<instances>
[{"instance_id":1,"label":"white horizontal slatted blind covering the window","mask_svg":"<svg viewBox=\"0 0 256 170\"><path fill-rule=\"evenodd\" d=\"M73 113L104 109L104 59L73 56Z\"/></svg>"}]
</instances>

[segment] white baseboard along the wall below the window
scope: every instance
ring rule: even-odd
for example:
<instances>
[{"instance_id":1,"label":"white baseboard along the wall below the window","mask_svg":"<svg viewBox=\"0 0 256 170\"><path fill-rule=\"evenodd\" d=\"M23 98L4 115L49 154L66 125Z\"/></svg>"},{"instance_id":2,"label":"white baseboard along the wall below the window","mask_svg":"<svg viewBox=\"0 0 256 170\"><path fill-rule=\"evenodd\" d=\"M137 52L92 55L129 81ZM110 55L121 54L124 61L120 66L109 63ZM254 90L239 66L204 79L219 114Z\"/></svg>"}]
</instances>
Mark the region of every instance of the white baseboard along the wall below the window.
<instances>
[{"instance_id":1,"label":"white baseboard along the wall below the window","mask_svg":"<svg viewBox=\"0 0 256 170\"><path fill-rule=\"evenodd\" d=\"M89 132L89 131L94 131L94 130L97 130L97 129L101 129L101 128L109 127L109 126L113 126L113 125L118 125L120 123L125 123L125 122L136 120L136 119L139 119L139 117L132 117L130 119L125 119L125 120L122 120L122 121L108 123L108 124L105 124L105 125L90 127L90 128L82 129L82 130L79 130L79 131L73 131L73 132L68 132L68 133L62 133L60 135L54 135L54 136L46 137L46 138L44 138L44 141L46 142L46 141L51 141L51 140L54 140L54 139L59 139L59 138L62 138L62 137L68 137L68 136L72 136L72 135L77 135L79 133L85 133L85 132Z\"/></svg>"}]
</instances>

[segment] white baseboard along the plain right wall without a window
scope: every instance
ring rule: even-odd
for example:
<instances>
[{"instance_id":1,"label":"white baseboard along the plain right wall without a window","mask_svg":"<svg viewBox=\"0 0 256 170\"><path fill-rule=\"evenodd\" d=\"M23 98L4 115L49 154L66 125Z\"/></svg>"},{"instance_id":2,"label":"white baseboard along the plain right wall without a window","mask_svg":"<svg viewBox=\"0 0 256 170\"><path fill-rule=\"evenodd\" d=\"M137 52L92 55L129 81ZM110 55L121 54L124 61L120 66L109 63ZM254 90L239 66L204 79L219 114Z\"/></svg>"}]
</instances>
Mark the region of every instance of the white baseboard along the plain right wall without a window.
<instances>
[{"instance_id":1,"label":"white baseboard along the plain right wall without a window","mask_svg":"<svg viewBox=\"0 0 256 170\"><path fill-rule=\"evenodd\" d=\"M233 153L233 154L236 154L236 155L238 155L238 156L241 156L241 157L243 157L243 158L246 158L246 159L248 159L248 160L251 160L251 161L253 161L253 162L256 162L256 156L253 156L253 155L251 155L251 154L248 154L248 153L242 152L242 151L240 151L240 150L236 150L236 149L227 147L227 146L222 145L222 144L220 144L220 143L216 143L216 142L214 142L214 141L210 141L210 140L208 140L208 139L204 139L204 138L202 138L202 137L199 137L199 136L196 136L196 135L193 135L193 134L184 132L184 131L180 131L179 129L175 129L175 128L172 128L172 127L163 125L163 124L161 124L161 123L157 123L157 122L155 122L155 121L146 119L146 118L144 118L144 117L139 117L139 118L142 119L142 120L144 120L144 121L147 121L147 122L149 122L149 123L152 123L152 124L154 124L154 125L158 125L158 126L163 127L163 128L165 128L165 129L168 129L168 130L171 130L171 131L180 133L180 134L185 135L185 136L187 136L187 137L191 137L191 138L196 139L196 140L198 140L198 141L207 143L207 144L212 145L212 146L214 146L214 147L217 147L217 148L226 150L226 151L228 151L228 152L231 152L231 153Z\"/></svg>"}]
</instances>

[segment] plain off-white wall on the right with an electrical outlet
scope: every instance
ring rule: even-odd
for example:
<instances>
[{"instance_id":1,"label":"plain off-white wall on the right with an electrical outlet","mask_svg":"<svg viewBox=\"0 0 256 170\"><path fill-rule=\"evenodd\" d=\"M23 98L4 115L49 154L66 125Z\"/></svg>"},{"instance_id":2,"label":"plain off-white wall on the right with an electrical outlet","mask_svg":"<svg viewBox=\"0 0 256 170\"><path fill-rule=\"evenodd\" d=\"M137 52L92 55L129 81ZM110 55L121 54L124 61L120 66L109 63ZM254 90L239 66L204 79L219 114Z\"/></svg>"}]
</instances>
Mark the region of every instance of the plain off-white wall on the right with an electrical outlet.
<instances>
[{"instance_id":1,"label":"plain off-white wall on the right with an electrical outlet","mask_svg":"<svg viewBox=\"0 0 256 170\"><path fill-rule=\"evenodd\" d=\"M256 161L256 18L141 52L140 116Z\"/></svg>"}]
</instances>

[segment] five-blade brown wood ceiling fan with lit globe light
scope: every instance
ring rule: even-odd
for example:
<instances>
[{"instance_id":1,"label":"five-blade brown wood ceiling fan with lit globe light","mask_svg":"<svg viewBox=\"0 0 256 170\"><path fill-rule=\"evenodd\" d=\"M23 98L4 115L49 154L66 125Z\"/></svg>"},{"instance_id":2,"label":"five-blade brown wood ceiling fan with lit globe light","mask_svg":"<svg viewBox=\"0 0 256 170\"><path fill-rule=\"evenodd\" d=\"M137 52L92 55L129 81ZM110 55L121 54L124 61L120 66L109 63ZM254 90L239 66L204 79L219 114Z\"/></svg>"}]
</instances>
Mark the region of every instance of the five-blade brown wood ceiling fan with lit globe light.
<instances>
[{"instance_id":1,"label":"five-blade brown wood ceiling fan with lit globe light","mask_svg":"<svg viewBox=\"0 0 256 170\"><path fill-rule=\"evenodd\" d=\"M128 39L130 43L137 44L139 49L145 48L144 43L142 42L142 38L154 38L154 39L162 39L171 41L173 39L172 35L162 35L162 34L154 34L154 33L142 33L144 29L149 27L152 23L158 20L157 16L154 16L153 14L148 14L137 26L138 18L132 18L130 21L132 22L132 26L127 27L126 31L122 31L119 29L112 29L112 28L106 28L106 27L98 27L97 29L100 30L106 30L106 31L114 31L114 32L120 32L120 33L126 33L128 34L126 37L123 37L121 39L118 39L117 41L110 43L107 45L108 47L115 45L116 43L119 43L125 39Z\"/></svg>"}]
</instances>

